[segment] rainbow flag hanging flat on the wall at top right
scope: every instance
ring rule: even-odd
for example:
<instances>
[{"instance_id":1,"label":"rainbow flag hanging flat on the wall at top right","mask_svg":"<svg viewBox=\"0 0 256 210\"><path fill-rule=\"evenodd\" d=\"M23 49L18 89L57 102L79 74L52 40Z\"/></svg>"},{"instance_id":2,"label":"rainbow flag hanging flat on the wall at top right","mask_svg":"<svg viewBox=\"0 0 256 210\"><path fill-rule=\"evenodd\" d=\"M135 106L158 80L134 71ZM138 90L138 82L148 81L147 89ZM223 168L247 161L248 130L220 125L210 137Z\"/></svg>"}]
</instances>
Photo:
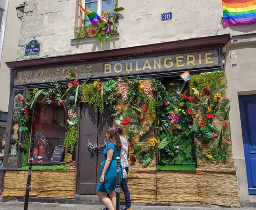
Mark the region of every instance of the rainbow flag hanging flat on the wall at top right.
<instances>
[{"instance_id":1,"label":"rainbow flag hanging flat on the wall at top right","mask_svg":"<svg viewBox=\"0 0 256 210\"><path fill-rule=\"evenodd\" d=\"M223 26L256 24L256 0L222 0Z\"/></svg>"}]
</instances>

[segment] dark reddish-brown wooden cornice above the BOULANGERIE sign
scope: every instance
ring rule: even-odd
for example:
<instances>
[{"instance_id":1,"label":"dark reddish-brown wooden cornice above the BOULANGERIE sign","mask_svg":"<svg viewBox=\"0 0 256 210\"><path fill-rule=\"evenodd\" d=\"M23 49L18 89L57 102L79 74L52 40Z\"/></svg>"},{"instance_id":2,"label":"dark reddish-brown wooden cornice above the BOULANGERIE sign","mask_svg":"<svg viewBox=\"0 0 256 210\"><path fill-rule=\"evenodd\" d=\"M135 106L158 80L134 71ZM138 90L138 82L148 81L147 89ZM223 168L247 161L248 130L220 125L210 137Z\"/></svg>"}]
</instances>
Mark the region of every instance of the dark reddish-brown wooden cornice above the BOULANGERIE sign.
<instances>
[{"instance_id":1,"label":"dark reddish-brown wooden cornice above the BOULANGERIE sign","mask_svg":"<svg viewBox=\"0 0 256 210\"><path fill-rule=\"evenodd\" d=\"M148 44L142 46L119 48L114 50L104 50L98 52L76 53L72 55L58 55L38 59L27 59L21 61L7 62L10 69L26 69L32 67L46 67L52 65L67 65L71 63L84 63L102 61L104 59L134 58L140 56L150 56L160 53L172 53L205 48L220 48L230 39L230 34L208 36L202 38L191 38L164 42L158 44Z\"/></svg>"}]
</instances>

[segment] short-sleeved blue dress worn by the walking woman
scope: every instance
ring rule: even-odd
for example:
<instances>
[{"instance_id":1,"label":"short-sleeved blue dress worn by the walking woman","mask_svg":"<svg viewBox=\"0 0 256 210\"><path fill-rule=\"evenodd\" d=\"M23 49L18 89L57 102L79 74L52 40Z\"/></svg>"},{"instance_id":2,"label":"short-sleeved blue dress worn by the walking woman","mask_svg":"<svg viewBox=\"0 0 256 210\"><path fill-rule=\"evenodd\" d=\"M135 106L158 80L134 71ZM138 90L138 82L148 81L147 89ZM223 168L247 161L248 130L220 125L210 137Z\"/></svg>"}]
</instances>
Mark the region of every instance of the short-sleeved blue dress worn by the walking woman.
<instances>
[{"instance_id":1,"label":"short-sleeved blue dress worn by the walking woman","mask_svg":"<svg viewBox=\"0 0 256 210\"><path fill-rule=\"evenodd\" d=\"M116 188L116 158L120 157L120 151L117 151L116 146L114 143L110 142L108 143L107 147L103 151L104 159L102 161L101 169L100 169L100 176L102 174L103 168L105 166L108 150L112 149L114 150L114 154L112 157L112 160L110 162L110 165L108 166L108 170L105 173L105 182L101 183L99 180L97 192L110 192L115 190ZM120 162L120 168L119 168L119 175L120 175L120 183L122 182L122 167Z\"/></svg>"}]
</instances>

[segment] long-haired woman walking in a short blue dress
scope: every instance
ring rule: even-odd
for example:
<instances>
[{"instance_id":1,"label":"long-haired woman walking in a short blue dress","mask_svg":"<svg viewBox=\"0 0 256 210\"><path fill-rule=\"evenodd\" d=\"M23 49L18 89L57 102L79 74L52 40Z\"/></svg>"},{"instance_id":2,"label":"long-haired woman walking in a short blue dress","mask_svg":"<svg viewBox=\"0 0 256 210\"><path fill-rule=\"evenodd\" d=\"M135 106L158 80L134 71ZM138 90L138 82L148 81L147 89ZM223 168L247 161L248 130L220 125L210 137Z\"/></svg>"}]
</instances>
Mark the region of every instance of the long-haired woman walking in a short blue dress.
<instances>
[{"instance_id":1,"label":"long-haired woman walking in a short blue dress","mask_svg":"<svg viewBox=\"0 0 256 210\"><path fill-rule=\"evenodd\" d=\"M98 196L102 203L109 209L116 209L116 157L120 157L122 149L121 140L115 127L109 127L106 133L108 145L103 151L104 160L100 170L98 183ZM122 168L119 169L120 183L122 181ZM109 194L110 198L108 198Z\"/></svg>"}]
</instances>

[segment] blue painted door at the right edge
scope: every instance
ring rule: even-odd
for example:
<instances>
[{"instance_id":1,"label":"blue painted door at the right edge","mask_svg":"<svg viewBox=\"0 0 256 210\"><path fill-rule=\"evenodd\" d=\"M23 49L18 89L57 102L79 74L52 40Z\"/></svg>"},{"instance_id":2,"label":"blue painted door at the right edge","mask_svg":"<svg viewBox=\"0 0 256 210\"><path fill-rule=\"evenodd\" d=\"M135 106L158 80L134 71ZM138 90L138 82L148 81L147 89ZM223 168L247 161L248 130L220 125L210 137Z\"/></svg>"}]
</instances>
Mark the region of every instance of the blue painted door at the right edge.
<instances>
[{"instance_id":1,"label":"blue painted door at the right edge","mask_svg":"<svg viewBox=\"0 0 256 210\"><path fill-rule=\"evenodd\" d=\"M240 95L239 106L250 195L256 195L256 95Z\"/></svg>"}]
</instances>

